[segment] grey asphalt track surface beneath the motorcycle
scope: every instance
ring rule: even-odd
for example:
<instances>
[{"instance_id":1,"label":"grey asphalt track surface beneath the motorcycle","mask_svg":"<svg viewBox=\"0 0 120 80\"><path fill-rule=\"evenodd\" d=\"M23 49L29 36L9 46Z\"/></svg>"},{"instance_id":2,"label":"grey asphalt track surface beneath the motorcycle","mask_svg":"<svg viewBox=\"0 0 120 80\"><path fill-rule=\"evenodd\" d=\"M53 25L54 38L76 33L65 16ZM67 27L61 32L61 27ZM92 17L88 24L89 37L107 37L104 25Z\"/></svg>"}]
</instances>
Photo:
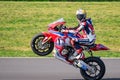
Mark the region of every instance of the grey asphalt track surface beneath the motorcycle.
<instances>
[{"instance_id":1,"label":"grey asphalt track surface beneath the motorcycle","mask_svg":"<svg viewBox=\"0 0 120 80\"><path fill-rule=\"evenodd\" d=\"M120 59L102 59L102 80L120 80ZM0 80L83 80L79 69L54 58L0 58Z\"/></svg>"}]
</instances>

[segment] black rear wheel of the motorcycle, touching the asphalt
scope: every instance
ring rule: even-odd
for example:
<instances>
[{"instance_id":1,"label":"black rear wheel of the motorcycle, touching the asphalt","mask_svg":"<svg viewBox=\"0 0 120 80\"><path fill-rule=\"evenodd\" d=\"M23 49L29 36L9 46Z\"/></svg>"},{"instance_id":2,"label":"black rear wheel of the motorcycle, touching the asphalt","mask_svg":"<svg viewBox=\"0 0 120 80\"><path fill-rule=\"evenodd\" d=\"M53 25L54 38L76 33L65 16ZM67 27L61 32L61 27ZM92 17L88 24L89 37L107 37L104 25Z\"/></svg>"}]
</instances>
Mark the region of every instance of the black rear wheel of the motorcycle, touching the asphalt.
<instances>
[{"instance_id":1,"label":"black rear wheel of the motorcycle, touching the asphalt","mask_svg":"<svg viewBox=\"0 0 120 80\"><path fill-rule=\"evenodd\" d=\"M85 80L100 80L105 74L105 64L98 57L88 57L84 60L85 63L94 67L95 74L90 74L88 71L80 69L80 73ZM91 64L92 63L92 64Z\"/></svg>"}]
</instances>

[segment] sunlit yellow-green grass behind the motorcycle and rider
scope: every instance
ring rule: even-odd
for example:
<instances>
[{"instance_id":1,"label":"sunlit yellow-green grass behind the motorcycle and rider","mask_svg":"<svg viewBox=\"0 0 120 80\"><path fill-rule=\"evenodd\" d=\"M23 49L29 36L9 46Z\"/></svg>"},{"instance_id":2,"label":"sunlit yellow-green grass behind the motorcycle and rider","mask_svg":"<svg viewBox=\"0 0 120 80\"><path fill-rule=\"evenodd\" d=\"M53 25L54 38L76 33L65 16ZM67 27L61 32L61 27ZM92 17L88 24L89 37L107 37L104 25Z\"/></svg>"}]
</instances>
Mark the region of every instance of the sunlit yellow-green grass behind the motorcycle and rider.
<instances>
[{"instance_id":1,"label":"sunlit yellow-green grass behind the motorcycle and rider","mask_svg":"<svg viewBox=\"0 0 120 80\"><path fill-rule=\"evenodd\" d=\"M103 57L120 57L120 2L0 2L0 57L38 57L30 48L32 37L47 31L47 25L63 17L67 26L78 24L75 12L87 10L97 40L110 51ZM52 55L49 55L52 56Z\"/></svg>"}]
</instances>

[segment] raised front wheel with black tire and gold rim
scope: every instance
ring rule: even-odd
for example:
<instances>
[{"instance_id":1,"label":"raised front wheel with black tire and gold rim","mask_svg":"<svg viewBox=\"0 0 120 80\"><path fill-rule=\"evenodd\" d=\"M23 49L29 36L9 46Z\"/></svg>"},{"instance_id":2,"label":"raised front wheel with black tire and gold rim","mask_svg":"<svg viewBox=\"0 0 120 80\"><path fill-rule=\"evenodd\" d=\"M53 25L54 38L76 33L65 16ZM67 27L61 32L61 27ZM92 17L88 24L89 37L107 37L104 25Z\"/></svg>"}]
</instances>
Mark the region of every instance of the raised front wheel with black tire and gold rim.
<instances>
[{"instance_id":1,"label":"raised front wheel with black tire and gold rim","mask_svg":"<svg viewBox=\"0 0 120 80\"><path fill-rule=\"evenodd\" d=\"M42 33L40 33L34 36L31 41L31 48L33 52L39 56L46 56L50 54L54 48L53 42L46 42L46 44L42 45L40 41L44 38L45 36Z\"/></svg>"}]
</instances>

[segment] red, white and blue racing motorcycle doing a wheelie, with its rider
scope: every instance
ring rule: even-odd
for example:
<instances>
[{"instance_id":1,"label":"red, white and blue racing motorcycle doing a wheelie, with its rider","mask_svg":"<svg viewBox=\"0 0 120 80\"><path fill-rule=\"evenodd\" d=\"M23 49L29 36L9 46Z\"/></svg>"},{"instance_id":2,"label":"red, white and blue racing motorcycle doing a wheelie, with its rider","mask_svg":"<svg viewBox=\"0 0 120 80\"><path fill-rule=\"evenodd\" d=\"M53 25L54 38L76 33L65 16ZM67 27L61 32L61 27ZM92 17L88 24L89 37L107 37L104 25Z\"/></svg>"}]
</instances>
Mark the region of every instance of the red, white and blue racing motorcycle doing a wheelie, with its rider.
<instances>
[{"instance_id":1,"label":"red, white and blue racing motorcycle doing a wheelie, with its rider","mask_svg":"<svg viewBox=\"0 0 120 80\"><path fill-rule=\"evenodd\" d=\"M48 25L48 32L42 32L33 37L31 48L40 56L50 54L76 68L85 80L100 80L105 74L105 64L93 56L92 51L109 50L102 44L96 44L96 35L91 19L86 19L86 11L76 11L79 25L67 28L63 18ZM83 34L79 33L83 31ZM84 51L90 54L85 57Z\"/></svg>"}]
</instances>

